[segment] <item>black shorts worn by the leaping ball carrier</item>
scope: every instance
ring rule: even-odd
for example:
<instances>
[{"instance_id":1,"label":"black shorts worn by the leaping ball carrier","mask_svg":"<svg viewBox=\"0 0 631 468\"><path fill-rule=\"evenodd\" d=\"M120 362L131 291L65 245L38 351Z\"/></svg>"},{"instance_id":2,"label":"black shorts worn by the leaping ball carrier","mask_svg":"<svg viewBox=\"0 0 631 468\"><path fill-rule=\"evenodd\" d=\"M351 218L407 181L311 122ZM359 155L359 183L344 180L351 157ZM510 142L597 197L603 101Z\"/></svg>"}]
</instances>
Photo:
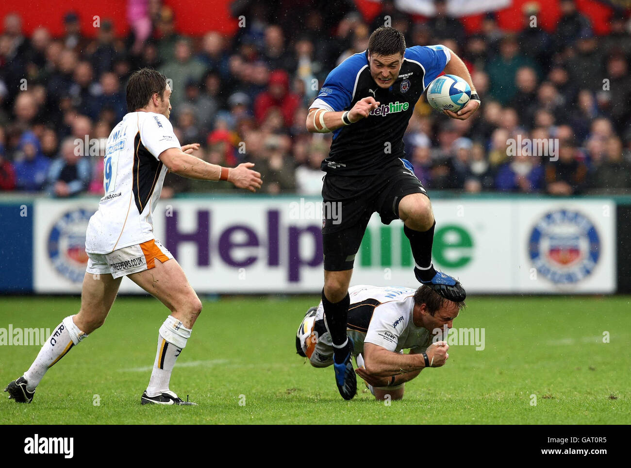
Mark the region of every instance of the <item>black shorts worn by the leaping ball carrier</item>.
<instances>
[{"instance_id":1,"label":"black shorts worn by the leaping ball carrier","mask_svg":"<svg viewBox=\"0 0 631 468\"><path fill-rule=\"evenodd\" d=\"M363 234L375 211L389 225L399 219L404 196L427 191L408 161L395 160L384 172L369 176L345 176L328 172L322 187L322 247L324 269L353 268Z\"/></svg>"}]
</instances>

